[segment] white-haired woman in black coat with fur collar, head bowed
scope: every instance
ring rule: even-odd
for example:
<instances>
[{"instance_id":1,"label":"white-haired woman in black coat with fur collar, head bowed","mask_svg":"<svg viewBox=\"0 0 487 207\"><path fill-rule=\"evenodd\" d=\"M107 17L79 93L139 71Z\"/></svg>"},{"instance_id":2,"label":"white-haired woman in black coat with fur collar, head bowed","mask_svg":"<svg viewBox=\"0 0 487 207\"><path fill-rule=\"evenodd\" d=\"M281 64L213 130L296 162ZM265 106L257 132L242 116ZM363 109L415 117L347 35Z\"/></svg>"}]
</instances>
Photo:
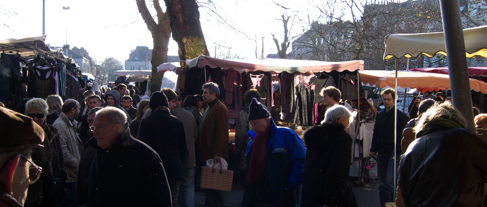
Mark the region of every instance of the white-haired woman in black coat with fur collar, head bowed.
<instances>
[{"instance_id":1,"label":"white-haired woman in black coat with fur collar, head bowed","mask_svg":"<svg viewBox=\"0 0 487 207\"><path fill-rule=\"evenodd\" d=\"M302 207L356 207L349 182L352 138L346 130L356 112L334 105L321 125L304 132L307 146Z\"/></svg>"}]
</instances>

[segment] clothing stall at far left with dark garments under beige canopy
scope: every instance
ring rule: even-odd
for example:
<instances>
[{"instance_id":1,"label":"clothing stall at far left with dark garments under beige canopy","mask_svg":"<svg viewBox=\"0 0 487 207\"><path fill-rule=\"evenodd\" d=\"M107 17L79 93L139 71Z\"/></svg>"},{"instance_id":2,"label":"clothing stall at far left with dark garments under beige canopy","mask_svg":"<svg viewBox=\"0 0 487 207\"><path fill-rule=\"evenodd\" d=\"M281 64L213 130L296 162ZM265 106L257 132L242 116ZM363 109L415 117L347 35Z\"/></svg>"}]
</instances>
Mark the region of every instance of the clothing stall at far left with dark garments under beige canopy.
<instances>
[{"instance_id":1,"label":"clothing stall at far left with dark garments under beige canopy","mask_svg":"<svg viewBox=\"0 0 487 207\"><path fill-rule=\"evenodd\" d=\"M77 98L84 85L79 67L60 50L51 50L44 40L47 35L0 41L2 69L1 102L7 104L8 93L15 103L27 97L46 98L57 94L63 99ZM6 77L5 74L12 74Z\"/></svg>"}]
</instances>

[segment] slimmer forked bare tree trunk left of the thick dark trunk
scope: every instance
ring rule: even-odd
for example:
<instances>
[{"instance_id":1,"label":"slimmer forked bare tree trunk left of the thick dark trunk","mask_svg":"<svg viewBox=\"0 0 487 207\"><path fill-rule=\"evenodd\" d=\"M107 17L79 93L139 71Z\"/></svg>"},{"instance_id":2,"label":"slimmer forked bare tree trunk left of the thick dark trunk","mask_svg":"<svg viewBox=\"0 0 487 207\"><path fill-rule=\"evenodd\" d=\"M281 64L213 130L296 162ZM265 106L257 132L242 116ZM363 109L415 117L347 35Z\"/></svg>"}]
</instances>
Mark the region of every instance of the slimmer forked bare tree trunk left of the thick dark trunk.
<instances>
[{"instance_id":1,"label":"slimmer forked bare tree trunk left of the thick dark trunk","mask_svg":"<svg viewBox=\"0 0 487 207\"><path fill-rule=\"evenodd\" d=\"M150 64L152 65L152 72L150 77L150 91L155 92L161 89L162 77L164 72L157 73L157 66L168 62L168 45L169 38L171 37L171 28L169 26L169 16L166 12L162 11L159 0L153 0L154 8L157 12L157 23L150 15L149 9L145 0L135 0L140 15L147 24L147 29L152 34L153 50L152 59Z\"/></svg>"}]
</instances>

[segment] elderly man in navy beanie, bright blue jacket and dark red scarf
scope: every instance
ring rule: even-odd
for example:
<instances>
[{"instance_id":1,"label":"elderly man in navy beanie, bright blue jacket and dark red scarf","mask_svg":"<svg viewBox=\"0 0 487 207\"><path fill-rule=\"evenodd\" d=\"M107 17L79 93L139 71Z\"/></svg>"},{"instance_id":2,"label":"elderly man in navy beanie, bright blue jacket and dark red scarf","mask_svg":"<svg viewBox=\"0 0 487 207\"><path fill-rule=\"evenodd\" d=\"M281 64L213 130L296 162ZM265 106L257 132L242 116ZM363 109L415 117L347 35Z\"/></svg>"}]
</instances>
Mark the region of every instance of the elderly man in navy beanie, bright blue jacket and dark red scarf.
<instances>
[{"instance_id":1,"label":"elderly man in navy beanie, bright blue jacket and dark red scarf","mask_svg":"<svg viewBox=\"0 0 487 207\"><path fill-rule=\"evenodd\" d=\"M292 129L278 127L257 99L250 104L252 139L247 147L247 179L242 207L298 207L306 149Z\"/></svg>"}]
</instances>

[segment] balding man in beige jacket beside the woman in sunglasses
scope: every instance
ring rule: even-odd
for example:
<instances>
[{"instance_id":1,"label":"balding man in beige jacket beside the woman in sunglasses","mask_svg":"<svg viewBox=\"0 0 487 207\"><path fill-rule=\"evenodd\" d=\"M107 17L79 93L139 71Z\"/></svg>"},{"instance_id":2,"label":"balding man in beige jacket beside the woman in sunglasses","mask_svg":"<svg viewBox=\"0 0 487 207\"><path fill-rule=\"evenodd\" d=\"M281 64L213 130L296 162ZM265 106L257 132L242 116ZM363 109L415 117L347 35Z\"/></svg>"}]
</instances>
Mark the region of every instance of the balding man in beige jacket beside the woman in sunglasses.
<instances>
[{"instance_id":1,"label":"balding man in beige jacket beside the woman in sunglasses","mask_svg":"<svg viewBox=\"0 0 487 207\"><path fill-rule=\"evenodd\" d=\"M76 134L79 103L74 99L67 99L61 110L62 112L59 118L54 121L53 126L59 131L59 140L64 155L66 171L68 172L68 178L65 183L66 195L62 203L63 206L75 207L78 165L83 152L83 144Z\"/></svg>"}]
</instances>

